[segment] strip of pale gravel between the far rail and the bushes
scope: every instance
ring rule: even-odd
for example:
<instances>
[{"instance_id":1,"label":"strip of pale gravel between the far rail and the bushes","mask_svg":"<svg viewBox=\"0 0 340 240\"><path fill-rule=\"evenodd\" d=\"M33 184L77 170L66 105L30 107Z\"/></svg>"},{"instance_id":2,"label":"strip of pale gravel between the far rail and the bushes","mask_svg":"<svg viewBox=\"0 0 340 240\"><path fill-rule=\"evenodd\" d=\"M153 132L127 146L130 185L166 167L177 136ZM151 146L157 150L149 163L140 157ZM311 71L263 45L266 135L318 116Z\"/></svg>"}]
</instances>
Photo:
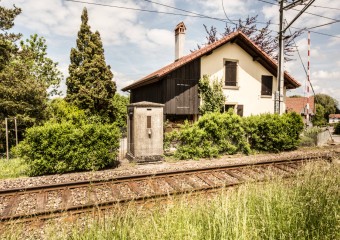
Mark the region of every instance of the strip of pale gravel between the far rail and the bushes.
<instances>
[{"instance_id":1,"label":"strip of pale gravel between the far rail and the bushes","mask_svg":"<svg viewBox=\"0 0 340 240\"><path fill-rule=\"evenodd\" d=\"M66 182L77 182L86 180L105 180L108 178L114 178L119 176L131 176L138 174L154 174L165 171L176 171L186 169L197 169L204 167L222 166L222 165L233 165L233 164L245 164L245 163L256 163L260 161L272 161L272 160L283 160L293 159L298 157L311 157L311 156L330 156L333 158L339 158L340 156L340 145L313 148L313 149L299 149L291 152L283 152L278 154L256 154L250 156L244 155L226 155L220 158L213 159L200 159L200 160L186 160L186 161L164 161L160 163L152 163L145 165L136 165L129 163L127 160L121 161L118 168L107 169L102 171L93 172L79 172L69 173L61 175L48 175L40 177L23 177L16 179L2 179L0 180L0 190L11 189L11 188L24 188L41 185L50 185Z\"/></svg>"}]
</instances>

